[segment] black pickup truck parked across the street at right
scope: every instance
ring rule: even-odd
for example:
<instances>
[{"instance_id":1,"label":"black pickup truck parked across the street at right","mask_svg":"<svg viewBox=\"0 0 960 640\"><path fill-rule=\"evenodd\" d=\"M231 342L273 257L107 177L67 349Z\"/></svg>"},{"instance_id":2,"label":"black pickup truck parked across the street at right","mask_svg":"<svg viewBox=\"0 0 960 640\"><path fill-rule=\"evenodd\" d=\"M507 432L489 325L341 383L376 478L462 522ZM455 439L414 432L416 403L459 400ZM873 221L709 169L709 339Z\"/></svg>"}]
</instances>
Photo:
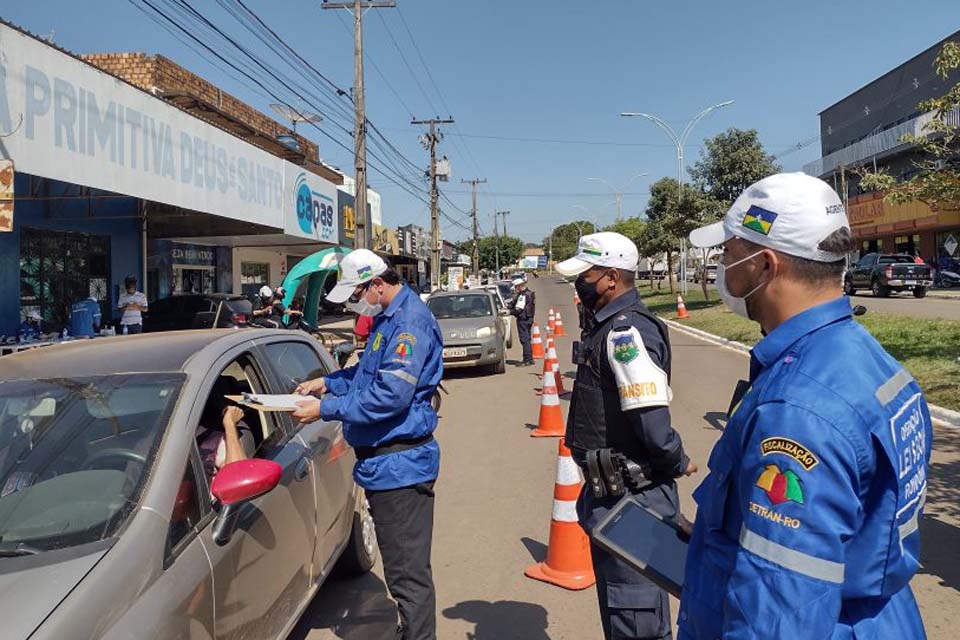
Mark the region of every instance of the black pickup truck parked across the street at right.
<instances>
[{"instance_id":1,"label":"black pickup truck parked across the street at right","mask_svg":"<svg viewBox=\"0 0 960 640\"><path fill-rule=\"evenodd\" d=\"M912 256L901 253L868 253L843 275L843 292L848 296L857 289L870 289L879 298L891 291L910 290L914 298L922 298L932 284L930 265L916 264Z\"/></svg>"}]
</instances>

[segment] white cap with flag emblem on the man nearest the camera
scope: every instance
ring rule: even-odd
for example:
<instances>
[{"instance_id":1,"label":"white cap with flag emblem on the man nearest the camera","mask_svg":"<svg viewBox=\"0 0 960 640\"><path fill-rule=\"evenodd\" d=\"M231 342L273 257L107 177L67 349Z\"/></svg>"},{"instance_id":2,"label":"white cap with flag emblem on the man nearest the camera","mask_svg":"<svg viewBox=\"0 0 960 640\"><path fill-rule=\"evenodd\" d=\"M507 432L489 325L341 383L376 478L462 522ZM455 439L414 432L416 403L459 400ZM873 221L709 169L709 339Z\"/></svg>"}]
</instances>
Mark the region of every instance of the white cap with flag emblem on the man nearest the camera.
<instances>
[{"instance_id":1,"label":"white cap with flag emblem on the man nearest the camera","mask_svg":"<svg viewBox=\"0 0 960 640\"><path fill-rule=\"evenodd\" d=\"M798 258L836 262L844 254L818 247L843 228L850 228L847 213L826 182L805 173L778 173L747 187L723 220L695 229L690 244L715 247L742 238Z\"/></svg>"}]
</instances>

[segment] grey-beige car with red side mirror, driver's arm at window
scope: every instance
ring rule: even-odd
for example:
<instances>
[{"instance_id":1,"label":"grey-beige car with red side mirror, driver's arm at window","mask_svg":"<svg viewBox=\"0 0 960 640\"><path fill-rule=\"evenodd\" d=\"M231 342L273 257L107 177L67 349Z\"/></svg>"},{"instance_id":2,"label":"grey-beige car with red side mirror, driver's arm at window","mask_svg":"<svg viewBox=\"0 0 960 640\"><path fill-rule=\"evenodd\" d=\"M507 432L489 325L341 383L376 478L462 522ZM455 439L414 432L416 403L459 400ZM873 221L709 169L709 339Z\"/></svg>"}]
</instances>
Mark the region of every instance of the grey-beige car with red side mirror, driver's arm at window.
<instances>
[{"instance_id":1,"label":"grey-beige car with red side mirror, driver's arm at window","mask_svg":"<svg viewBox=\"0 0 960 640\"><path fill-rule=\"evenodd\" d=\"M308 336L266 329L5 357L3 637L286 638L338 561L374 564L353 450L338 422L247 410L253 457L211 482L197 442L216 425L200 420L225 402L215 385L288 393L335 368Z\"/></svg>"}]
</instances>

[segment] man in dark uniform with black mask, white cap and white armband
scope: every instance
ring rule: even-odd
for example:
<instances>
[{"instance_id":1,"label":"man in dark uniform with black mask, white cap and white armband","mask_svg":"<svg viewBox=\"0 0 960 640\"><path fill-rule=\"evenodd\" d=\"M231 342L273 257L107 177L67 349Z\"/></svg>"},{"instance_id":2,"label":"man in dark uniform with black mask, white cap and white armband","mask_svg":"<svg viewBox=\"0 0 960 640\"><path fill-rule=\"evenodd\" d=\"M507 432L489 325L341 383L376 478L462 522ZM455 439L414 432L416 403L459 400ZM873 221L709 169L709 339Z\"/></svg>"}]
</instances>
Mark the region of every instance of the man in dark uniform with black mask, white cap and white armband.
<instances>
[{"instance_id":1,"label":"man in dark uniform with black mask, white cap and white armband","mask_svg":"<svg viewBox=\"0 0 960 640\"><path fill-rule=\"evenodd\" d=\"M638 258L628 238L601 232L583 236L577 255L556 267L577 276L581 304L595 313L574 348L577 377L566 431L574 461L588 478L577 501L588 534L622 496L594 495L594 480L611 485L614 478L592 459L609 452L642 468L649 483L630 492L666 517L680 510L675 479L697 470L671 426L670 337L637 293ZM591 544L590 551L604 637L671 637L667 593L600 547Z\"/></svg>"}]
</instances>

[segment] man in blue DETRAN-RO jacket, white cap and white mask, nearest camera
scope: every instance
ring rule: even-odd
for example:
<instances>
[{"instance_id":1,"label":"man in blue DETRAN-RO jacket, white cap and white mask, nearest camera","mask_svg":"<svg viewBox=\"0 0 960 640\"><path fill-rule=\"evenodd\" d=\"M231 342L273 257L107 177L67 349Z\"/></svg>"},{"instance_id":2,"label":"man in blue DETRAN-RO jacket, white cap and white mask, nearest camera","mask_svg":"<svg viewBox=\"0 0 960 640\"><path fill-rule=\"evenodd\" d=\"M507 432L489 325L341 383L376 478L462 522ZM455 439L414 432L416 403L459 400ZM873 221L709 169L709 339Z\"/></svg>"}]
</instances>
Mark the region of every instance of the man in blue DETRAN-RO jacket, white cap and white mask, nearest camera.
<instances>
[{"instance_id":1,"label":"man in blue DETRAN-RO jacket, white cap and white mask, nearest camera","mask_svg":"<svg viewBox=\"0 0 960 640\"><path fill-rule=\"evenodd\" d=\"M932 431L914 379L851 317L827 183L751 185L721 222L717 292L760 325L694 492L679 638L923 638L910 579Z\"/></svg>"}]
</instances>

